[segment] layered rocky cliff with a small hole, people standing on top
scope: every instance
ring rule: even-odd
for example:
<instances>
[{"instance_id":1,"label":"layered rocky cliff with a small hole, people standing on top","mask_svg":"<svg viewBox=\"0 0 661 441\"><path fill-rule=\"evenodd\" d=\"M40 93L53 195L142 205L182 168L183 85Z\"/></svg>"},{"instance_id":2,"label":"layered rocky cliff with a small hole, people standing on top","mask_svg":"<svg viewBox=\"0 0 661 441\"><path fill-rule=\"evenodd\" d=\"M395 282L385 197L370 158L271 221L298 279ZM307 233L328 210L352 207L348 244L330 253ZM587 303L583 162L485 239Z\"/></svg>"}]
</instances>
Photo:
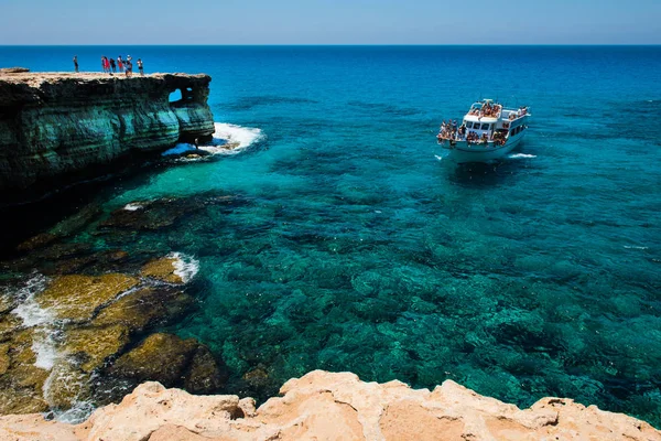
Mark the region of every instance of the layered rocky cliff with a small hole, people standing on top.
<instances>
[{"instance_id":1,"label":"layered rocky cliff with a small hole, people standing on top","mask_svg":"<svg viewBox=\"0 0 661 441\"><path fill-rule=\"evenodd\" d=\"M207 75L0 73L0 193L209 137ZM182 99L170 103L172 92ZM86 173L88 176L89 173Z\"/></svg>"}]
</instances>

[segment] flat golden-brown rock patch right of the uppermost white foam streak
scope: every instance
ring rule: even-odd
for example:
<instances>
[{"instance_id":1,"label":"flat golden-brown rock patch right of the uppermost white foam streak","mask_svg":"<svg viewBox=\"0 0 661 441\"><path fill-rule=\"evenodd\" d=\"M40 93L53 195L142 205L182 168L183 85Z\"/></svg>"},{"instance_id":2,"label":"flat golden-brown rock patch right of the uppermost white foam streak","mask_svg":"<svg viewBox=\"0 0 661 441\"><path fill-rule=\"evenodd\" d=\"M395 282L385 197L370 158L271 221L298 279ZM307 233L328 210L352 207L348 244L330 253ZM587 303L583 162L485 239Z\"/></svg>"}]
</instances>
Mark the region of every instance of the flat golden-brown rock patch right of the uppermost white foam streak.
<instances>
[{"instance_id":1,"label":"flat golden-brown rock patch right of the uppermost white foam streak","mask_svg":"<svg viewBox=\"0 0 661 441\"><path fill-rule=\"evenodd\" d=\"M62 276L36 297L41 308L55 312L59 319L87 321L98 308L138 284L138 279L124 275Z\"/></svg>"}]
</instances>

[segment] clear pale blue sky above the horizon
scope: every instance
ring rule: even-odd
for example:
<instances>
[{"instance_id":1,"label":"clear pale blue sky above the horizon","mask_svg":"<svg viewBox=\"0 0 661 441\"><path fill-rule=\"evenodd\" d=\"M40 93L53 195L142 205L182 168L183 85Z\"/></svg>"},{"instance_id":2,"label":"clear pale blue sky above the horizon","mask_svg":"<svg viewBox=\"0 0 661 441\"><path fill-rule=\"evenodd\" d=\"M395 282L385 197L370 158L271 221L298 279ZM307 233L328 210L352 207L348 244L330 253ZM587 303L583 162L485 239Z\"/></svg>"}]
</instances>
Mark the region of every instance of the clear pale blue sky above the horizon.
<instances>
[{"instance_id":1,"label":"clear pale blue sky above the horizon","mask_svg":"<svg viewBox=\"0 0 661 441\"><path fill-rule=\"evenodd\" d=\"M661 0L0 0L7 44L661 44Z\"/></svg>"}]
</instances>

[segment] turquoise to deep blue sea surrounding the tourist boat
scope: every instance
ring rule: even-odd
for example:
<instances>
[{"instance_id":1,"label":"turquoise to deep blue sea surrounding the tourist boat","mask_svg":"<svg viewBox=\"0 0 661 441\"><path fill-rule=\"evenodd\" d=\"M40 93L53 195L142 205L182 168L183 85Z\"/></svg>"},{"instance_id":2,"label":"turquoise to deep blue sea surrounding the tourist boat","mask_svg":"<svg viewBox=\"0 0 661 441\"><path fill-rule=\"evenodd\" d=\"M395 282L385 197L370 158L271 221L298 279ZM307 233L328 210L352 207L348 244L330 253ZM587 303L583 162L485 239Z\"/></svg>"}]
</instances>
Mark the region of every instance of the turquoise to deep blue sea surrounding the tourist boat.
<instances>
[{"instance_id":1,"label":"turquoise to deep blue sea surrounding the tourist boat","mask_svg":"<svg viewBox=\"0 0 661 441\"><path fill-rule=\"evenodd\" d=\"M2 46L0 64L71 72L74 55L213 77L237 150L164 155L84 202L240 202L71 240L185 256L198 305L163 331L223 359L227 392L350 370L661 428L661 46ZM529 131L458 165L435 136L480 98L529 106ZM61 205L30 234L83 203Z\"/></svg>"}]
</instances>

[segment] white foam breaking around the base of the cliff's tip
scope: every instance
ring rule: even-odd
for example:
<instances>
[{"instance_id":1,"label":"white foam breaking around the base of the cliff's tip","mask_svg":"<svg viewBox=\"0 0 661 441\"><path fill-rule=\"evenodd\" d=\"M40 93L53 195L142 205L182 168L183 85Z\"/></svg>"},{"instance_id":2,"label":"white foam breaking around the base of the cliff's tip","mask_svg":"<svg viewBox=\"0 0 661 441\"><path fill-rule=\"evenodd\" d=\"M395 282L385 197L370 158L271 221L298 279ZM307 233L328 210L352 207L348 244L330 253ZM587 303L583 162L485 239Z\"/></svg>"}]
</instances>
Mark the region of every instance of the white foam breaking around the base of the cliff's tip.
<instances>
[{"instance_id":1,"label":"white foam breaking around the base of the cliff's tip","mask_svg":"<svg viewBox=\"0 0 661 441\"><path fill-rule=\"evenodd\" d=\"M209 154L237 154L263 139L261 129L253 127L242 127L225 122L215 122L214 127L216 131L214 132L212 142L198 147L199 150ZM180 155L188 152L193 153L195 150L194 144L182 142L164 151L161 155Z\"/></svg>"}]
</instances>

